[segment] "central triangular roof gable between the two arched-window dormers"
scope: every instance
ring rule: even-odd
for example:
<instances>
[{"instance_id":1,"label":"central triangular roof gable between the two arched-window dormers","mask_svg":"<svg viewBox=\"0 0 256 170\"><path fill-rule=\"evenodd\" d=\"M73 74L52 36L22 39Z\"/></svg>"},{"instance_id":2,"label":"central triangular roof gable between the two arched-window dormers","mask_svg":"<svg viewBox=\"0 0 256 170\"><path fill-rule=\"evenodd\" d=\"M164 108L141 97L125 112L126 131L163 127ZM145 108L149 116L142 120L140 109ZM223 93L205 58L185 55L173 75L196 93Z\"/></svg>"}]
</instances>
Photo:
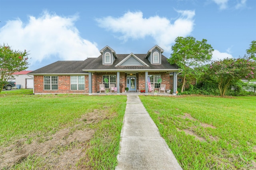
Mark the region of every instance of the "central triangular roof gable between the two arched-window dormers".
<instances>
[{"instance_id":1,"label":"central triangular roof gable between the two arched-window dormers","mask_svg":"<svg viewBox=\"0 0 256 170\"><path fill-rule=\"evenodd\" d=\"M115 66L149 66L144 61L139 59L133 53L130 53L127 57L125 57L122 61L117 63Z\"/></svg>"}]
</instances>

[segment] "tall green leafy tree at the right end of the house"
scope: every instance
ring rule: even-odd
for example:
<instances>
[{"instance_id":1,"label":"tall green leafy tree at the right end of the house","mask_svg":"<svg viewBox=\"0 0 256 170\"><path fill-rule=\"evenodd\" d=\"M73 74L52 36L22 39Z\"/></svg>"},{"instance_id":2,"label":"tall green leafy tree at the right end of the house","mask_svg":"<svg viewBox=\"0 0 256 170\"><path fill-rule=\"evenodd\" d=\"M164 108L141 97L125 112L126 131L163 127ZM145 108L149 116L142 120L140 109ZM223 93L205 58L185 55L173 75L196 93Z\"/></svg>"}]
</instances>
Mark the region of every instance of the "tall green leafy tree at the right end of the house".
<instances>
[{"instance_id":1,"label":"tall green leafy tree at the right end of the house","mask_svg":"<svg viewBox=\"0 0 256 170\"><path fill-rule=\"evenodd\" d=\"M183 84L181 92L184 91L186 78L195 76L197 73L194 69L202 66L204 63L212 59L212 46L207 44L206 39L197 41L194 37L177 37L175 44L172 46L173 53L170 59L167 59L170 64L176 64L182 69Z\"/></svg>"}]
</instances>

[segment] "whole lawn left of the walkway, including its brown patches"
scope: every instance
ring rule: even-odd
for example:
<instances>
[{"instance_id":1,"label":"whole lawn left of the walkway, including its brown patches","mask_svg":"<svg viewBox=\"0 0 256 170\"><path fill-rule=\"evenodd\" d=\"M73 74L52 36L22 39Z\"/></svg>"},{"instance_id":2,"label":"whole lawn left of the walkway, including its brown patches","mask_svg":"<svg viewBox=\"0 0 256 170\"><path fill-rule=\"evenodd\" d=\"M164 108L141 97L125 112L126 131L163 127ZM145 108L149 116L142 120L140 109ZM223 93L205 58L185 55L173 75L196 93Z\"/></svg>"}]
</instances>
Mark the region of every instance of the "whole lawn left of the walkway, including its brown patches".
<instances>
[{"instance_id":1,"label":"whole lawn left of the walkway, including its brown patches","mask_svg":"<svg viewBox=\"0 0 256 170\"><path fill-rule=\"evenodd\" d=\"M0 169L114 169L126 96L0 93Z\"/></svg>"}]
</instances>

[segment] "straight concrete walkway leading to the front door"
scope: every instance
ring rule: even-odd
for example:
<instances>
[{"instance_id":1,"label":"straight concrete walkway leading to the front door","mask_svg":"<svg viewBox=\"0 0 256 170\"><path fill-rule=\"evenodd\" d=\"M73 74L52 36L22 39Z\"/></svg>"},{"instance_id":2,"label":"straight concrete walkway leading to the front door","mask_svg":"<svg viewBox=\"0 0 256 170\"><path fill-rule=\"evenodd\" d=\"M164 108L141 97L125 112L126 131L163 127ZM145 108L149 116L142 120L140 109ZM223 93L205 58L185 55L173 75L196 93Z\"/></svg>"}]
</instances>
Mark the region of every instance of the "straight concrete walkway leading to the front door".
<instances>
[{"instance_id":1,"label":"straight concrete walkway leading to the front door","mask_svg":"<svg viewBox=\"0 0 256 170\"><path fill-rule=\"evenodd\" d=\"M127 95L116 170L182 170L138 95Z\"/></svg>"}]
</instances>

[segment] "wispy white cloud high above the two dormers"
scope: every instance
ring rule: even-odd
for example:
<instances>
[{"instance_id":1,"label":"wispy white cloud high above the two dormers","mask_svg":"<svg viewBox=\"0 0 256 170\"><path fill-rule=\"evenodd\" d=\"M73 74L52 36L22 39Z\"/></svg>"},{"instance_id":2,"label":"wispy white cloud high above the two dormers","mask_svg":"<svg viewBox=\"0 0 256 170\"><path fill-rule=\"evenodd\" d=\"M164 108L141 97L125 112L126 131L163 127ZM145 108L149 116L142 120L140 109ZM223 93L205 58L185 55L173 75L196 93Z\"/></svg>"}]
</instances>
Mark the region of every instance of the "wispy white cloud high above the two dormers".
<instances>
[{"instance_id":1,"label":"wispy white cloud high above the two dormers","mask_svg":"<svg viewBox=\"0 0 256 170\"><path fill-rule=\"evenodd\" d=\"M154 38L157 45L166 51L171 50L171 44L175 42L176 37L186 37L193 31L195 16L194 11L177 11L180 17L171 23L170 20L160 16L143 18L142 12L127 12L120 18L108 16L98 18L99 26L121 33L118 37L127 41L128 39L139 39L146 36Z\"/></svg>"}]
</instances>

